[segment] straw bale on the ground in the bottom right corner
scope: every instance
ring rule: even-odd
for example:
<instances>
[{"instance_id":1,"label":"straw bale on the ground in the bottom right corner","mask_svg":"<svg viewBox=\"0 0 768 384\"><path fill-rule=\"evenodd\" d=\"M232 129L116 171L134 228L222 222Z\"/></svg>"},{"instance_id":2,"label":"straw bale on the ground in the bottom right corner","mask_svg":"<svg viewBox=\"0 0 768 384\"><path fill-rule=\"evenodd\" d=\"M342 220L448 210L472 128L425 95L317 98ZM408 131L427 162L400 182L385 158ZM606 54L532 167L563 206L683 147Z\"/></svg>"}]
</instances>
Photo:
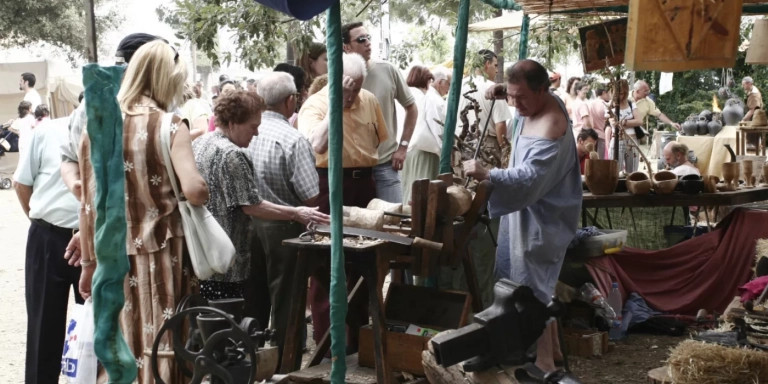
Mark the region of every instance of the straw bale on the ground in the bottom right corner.
<instances>
[{"instance_id":1,"label":"straw bale on the ground in the bottom right corner","mask_svg":"<svg viewBox=\"0 0 768 384\"><path fill-rule=\"evenodd\" d=\"M768 353L686 340L672 349L669 375L677 384L768 381Z\"/></svg>"}]
</instances>

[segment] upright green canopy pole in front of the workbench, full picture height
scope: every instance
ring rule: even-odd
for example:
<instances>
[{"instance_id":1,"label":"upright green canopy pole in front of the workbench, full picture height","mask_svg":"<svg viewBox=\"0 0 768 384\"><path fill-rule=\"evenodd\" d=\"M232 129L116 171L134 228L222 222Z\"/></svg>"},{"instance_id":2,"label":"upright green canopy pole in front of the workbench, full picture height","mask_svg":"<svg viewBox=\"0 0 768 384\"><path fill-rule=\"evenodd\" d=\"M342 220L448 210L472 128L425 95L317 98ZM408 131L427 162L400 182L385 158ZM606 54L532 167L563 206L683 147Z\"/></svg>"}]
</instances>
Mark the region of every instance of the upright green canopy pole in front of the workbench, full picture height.
<instances>
[{"instance_id":1,"label":"upright green canopy pole in front of the workbench, full picture height","mask_svg":"<svg viewBox=\"0 0 768 384\"><path fill-rule=\"evenodd\" d=\"M328 49L328 189L331 205L331 383L344 383L347 372L346 321L347 278L344 272L344 243L342 239L342 162L341 149L344 142L342 128L341 80L343 64L341 59L341 6L337 0L327 14L326 44Z\"/></svg>"}]
</instances>

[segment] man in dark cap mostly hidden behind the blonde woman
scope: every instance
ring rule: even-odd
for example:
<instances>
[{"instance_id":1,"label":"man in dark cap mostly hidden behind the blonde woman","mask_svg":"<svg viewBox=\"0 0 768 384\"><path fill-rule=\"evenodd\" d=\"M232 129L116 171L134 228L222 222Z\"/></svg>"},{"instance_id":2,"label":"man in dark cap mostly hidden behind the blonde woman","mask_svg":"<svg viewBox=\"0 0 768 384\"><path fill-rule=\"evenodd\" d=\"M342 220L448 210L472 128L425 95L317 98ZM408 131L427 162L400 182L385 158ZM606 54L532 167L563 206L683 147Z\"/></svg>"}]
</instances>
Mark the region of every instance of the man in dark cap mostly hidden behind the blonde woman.
<instances>
[{"instance_id":1,"label":"man in dark cap mostly hidden behind the blonde woman","mask_svg":"<svg viewBox=\"0 0 768 384\"><path fill-rule=\"evenodd\" d=\"M142 45L157 39L167 42L167 40L161 37L147 33L132 33L124 37L120 44L117 45L115 64L128 65L136 50ZM61 178L78 200L80 200L81 184L77 151L78 147L80 147L80 136L87 124L88 117L85 113L85 102L82 102L69 118L69 142L61 146ZM79 241L79 237L76 237L73 241L75 240Z\"/></svg>"}]
</instances>

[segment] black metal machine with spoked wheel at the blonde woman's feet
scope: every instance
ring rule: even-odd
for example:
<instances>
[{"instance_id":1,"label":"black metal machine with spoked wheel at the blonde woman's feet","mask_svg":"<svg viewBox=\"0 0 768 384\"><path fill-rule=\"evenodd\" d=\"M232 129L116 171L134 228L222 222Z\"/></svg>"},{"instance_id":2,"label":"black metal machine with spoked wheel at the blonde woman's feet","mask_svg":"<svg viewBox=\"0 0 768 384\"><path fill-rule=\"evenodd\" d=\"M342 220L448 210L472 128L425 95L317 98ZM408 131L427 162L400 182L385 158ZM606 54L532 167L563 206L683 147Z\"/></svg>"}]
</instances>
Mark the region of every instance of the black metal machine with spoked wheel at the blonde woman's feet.
<instances>
[{"instance_id":1,"label":"black metal machine with spoked wheel at the blonde woman's feet","mask_svg":"<svg viewBox=\"0 0 768 384\"><path fill-rule=\"evenodd\" d=\"M185 341L187 321L190 337ZM252 383L256 377L257 345L249 333L254 327L258 325L246 326L244 330L226 312L211 307L178 312L163 324L152 345L152 374L156 382L165 384L158 372L157 355L163 335L171 332L174 359L184 374L192 377L191 384L199 384L207 375L212 382ZM188 364L194 365L193 371L189 371Z\"/></svg>"}]
</instances>

